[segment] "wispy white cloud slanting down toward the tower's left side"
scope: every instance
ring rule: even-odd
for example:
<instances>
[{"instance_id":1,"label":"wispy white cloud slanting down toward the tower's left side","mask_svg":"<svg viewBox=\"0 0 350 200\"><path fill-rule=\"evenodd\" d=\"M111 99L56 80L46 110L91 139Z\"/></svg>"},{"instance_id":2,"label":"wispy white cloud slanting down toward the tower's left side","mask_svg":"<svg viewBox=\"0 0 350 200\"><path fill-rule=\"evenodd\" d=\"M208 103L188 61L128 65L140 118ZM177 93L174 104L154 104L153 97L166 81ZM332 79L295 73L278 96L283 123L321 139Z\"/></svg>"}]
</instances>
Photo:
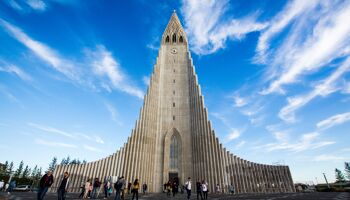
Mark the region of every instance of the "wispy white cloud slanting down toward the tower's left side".
<instances>
[{"instance_id":1,"label":"wispy white cloud slanting down toward the tower's left side","mask_svg":"<svg viewBox=\"0 0 350 200\"><path fill-rule=\"evenodd\" d=\"M120 64L113 58L112 53L104 46L97 46L96 51L89 52L93 57L93 72L99 77L107 77L110 85L120 91L143 98L143 91L130 84L126 74L121 71Z\"/></svg>"}]
</instances>

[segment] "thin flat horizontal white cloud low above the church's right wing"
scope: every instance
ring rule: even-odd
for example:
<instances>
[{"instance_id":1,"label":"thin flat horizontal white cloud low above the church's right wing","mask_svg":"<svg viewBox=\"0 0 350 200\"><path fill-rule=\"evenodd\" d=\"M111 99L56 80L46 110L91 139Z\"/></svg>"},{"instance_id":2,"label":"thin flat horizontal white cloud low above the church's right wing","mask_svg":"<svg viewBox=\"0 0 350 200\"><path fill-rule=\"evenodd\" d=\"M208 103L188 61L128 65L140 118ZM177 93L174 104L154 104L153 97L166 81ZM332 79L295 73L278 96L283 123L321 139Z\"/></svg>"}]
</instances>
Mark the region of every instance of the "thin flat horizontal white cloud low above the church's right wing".
<instances>
[{"instance_id":1,"label":"thin flat horizontal white cloud low above the church's right wing","mask_svg":"<svg viewBox=\"0 0 350 200\"><path fill-rule=\"evenodd\" d=\"M269 143L257 148L266 149L267 151L287 150L291 152L301 152L335 144L334 141L319 141L317 140L318 137L319 133L312 132L303 134L296 143L288 143L287 141Z\"/></svg>"}]
</instances>

